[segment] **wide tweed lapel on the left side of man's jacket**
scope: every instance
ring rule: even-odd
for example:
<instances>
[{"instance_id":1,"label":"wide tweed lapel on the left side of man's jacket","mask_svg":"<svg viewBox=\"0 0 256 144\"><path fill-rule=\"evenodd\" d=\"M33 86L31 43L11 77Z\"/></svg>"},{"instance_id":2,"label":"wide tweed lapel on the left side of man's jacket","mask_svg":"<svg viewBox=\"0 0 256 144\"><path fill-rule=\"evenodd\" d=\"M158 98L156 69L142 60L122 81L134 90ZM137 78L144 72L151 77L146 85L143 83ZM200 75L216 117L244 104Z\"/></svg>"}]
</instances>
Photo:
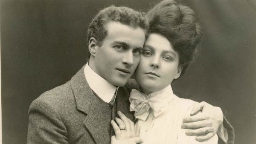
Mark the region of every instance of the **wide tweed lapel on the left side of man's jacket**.
<instances>
[{"instance_id":1,"label":"wide tweed lapel on the left side of man's jacket","mask_svg":"<svg viewBox=\"0 0 256 144\"><path fill-rule=\"evenodd\" d=\"M84 76L84 66L73 76L71 86L77 109L87 115L83 122L85 127L96 143L108 143L111 111L107 103L93 94Z\"/></svg>"}]
</instances>

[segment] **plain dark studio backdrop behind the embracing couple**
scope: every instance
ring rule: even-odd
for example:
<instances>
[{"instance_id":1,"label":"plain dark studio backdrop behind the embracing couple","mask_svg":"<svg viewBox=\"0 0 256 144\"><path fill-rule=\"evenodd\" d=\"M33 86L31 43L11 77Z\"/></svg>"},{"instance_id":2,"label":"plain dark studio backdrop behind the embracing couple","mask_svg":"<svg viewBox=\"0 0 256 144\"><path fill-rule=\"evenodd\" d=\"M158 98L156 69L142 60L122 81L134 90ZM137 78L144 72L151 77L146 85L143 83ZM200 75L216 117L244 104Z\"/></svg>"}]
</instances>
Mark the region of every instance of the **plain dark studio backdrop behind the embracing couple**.
<instances>
[{"instance_id":1,"label":"plain dark studio backdrop behind the embracing couple","mask_svg":"<svg viewBox=\"0 0 256 144\"><path fill-rule=\"evenodd\" d=\"M157 0L1 0L3 144L26 143L29 105L86 63L92 17L115 4L146 12ZM236 144L256 143L256 1L179 0L204 28L200 52L173 84L184 97L221 107Z\"/></svg>"}]
</instances>

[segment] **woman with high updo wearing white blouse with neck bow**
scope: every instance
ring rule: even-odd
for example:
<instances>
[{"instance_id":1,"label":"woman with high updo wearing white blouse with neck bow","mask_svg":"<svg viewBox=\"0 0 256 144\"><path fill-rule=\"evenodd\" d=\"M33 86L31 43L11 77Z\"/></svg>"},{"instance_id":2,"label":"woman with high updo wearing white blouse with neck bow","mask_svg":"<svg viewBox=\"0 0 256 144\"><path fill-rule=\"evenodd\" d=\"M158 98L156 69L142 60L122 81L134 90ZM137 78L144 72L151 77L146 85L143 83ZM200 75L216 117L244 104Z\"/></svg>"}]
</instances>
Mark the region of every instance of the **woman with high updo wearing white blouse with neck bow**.
<instances>
[{"instance_id":1,"label":"woman with high updo wearing white blouse with neck bow","mask_svg":"<svg viewBox=\"0 0 256 144\"><path fill-rule=\"evenodd\" d=\"M170 85L184 74L201 40L195 13L187 6L164 0L148 12L148 18L149 35L135 71L140 91L133 89L129 98L130 110L137 118L134 130L130 128L136 134L131 136L139 135L143 144L200 143L181 129L183 118L196 102L177 97ZM113 121L111 124L116 138L122 139L123 128ZM203 143L217 144L218 137L215 134Z\"/></svg>"}]
</instances>

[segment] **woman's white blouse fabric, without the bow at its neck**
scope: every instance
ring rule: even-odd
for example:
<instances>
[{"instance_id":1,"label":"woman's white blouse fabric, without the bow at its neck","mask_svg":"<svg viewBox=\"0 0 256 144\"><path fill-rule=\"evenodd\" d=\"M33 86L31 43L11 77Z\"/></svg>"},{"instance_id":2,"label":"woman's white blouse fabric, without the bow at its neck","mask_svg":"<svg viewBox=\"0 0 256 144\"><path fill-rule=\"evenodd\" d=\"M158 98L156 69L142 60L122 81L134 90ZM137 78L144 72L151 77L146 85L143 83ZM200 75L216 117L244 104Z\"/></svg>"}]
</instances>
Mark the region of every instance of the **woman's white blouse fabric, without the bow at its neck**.
<instances>
[{"instance_id":1,"label":"woman's white blouse fabric, without the bow at its neck","mask_svg":"<svg viewBox=\"0 0 256 144\"><path fill-rule=\"evenodd\" d=\"M149 109L147 119L137 119L135 124L136 132L142 138L143 144L218 144L216 134L208 141L198 142L195 136L187 136L186 130L181 129L183 118L190 114L192 105L197 102L177 97L173 94L171 86L149 96L157 97L159 94L169 95L166 100L169 102L163 108L163 112L155 117L152 109Z\"/></svg>"}]
</instances>

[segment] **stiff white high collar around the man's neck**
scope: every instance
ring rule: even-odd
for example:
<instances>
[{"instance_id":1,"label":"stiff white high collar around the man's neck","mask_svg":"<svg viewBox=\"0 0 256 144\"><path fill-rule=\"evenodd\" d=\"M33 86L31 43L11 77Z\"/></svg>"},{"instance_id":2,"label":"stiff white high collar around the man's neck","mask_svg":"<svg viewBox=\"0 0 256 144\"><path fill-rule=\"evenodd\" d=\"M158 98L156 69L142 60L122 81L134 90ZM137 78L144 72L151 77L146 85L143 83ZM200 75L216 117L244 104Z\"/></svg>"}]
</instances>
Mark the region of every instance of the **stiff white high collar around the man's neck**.
<instances>
[{"instance_id":1,"label":"stiff white high collar around the man's neck","mask_svg":"<svg viewBox=\"0 0 256 144\"><path fill-rule=\"evenodd\" d=\"M109 103L113 98L117 87L99 76L88 63L84 66L84 75L90 88L105 102Z\"/></svg>"}]
</instances>

